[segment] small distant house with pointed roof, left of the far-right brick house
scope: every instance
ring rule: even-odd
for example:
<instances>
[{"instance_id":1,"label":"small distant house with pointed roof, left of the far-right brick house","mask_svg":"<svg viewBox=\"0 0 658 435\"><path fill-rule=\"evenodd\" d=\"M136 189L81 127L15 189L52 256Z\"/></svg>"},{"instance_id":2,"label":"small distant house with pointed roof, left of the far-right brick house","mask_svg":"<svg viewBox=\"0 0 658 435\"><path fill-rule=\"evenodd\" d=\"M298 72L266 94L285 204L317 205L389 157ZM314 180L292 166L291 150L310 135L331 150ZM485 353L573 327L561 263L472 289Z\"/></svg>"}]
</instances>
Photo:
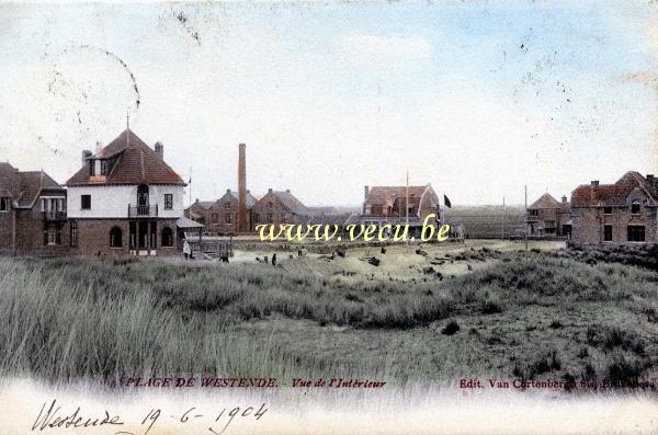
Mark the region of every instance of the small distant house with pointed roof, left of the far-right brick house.
<instances>
[{"instance_id":1,"label":"small distant house with pointed roof, left of the far-right brick house","mask_svg":"<svg viewBox=\"0 0 658 435\"><path fill-rule=\"evenodd\" d=\"M571 222L567 197L563 196L559 202L548 193L543 194L527 207L525 221L529 236L568 237L571 233Z\"/></svg>"}]
</instances>

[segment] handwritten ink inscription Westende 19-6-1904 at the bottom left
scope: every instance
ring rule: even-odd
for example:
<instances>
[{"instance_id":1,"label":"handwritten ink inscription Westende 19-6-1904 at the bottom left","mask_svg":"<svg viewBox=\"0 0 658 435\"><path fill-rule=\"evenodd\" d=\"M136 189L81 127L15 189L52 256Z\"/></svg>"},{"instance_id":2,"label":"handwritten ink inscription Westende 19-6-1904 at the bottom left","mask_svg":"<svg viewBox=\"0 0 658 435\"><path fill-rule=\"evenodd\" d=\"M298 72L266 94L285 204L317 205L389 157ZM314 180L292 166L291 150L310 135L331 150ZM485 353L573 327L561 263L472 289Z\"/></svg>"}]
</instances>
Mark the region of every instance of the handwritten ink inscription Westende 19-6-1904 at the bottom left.
<instances>
[{"instance_id":1,"label":"handwritten ink inscription Westende 19-6-1904 at the bottom left","mask_svg":"<svg viewBox=\"0 0 658 435\"><path fill-rule=\"evenodd\" d=\"M71 407L72 409L73 407ZM184 410L173 410L166 412L158 408L151 408L138 423L141 427L139 432L125 431L126 421L117 413L104 411L102 415L88 416L84 415L80 407L76 407L72 412L65 412L61 405L57 403L57 399L48 403L44 403L32 425L33 432L44 432L58 428L80 428L87 430L84 434L90 433L93 427L113 427L115 435L148 435L159 422L168 421L168 426L171 424L185 425L190 423L203 424L204 420L208 423L208 434L223 434L234 423L235 419L246 420L252 419L259 421L268 412L268 405L247 407L224 407L219 410L204 412L196 407L190 407ZM132 424L134 426L134 424ZM182 428L182 427L181 427Z\"/></svg>"}]
</instances>

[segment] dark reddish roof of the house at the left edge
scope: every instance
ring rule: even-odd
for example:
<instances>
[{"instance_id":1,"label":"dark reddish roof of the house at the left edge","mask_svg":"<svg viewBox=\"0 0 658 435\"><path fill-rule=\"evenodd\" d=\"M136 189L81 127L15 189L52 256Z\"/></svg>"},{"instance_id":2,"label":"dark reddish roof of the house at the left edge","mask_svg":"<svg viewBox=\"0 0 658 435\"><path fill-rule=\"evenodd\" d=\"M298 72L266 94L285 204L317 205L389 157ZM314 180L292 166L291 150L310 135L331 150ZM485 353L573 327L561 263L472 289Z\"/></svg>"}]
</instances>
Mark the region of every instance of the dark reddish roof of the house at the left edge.
<instances>
[{"instance_id":1,"label":"dark reddish roof of the house at the left edge","mask_svg":"<svg viewBox=\"0 0 658 435\"><path fill-rule=\"evenodd\" d=\"M44 171L19 171L0 162L0 194L11 197L16 207L32 207L43 190L64 188Z\"/></svg>"}]
</instances>

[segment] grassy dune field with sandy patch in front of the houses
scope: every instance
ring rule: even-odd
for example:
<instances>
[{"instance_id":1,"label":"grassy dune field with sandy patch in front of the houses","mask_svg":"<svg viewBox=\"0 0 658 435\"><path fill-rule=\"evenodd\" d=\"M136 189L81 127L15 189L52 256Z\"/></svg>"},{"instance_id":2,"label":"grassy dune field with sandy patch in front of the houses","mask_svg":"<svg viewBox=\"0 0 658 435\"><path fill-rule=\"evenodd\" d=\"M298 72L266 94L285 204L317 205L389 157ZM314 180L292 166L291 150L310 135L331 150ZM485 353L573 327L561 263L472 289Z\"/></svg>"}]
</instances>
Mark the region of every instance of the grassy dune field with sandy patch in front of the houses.
<instances>
[{"instance_id":1,"label":"grassy dune field with sandy patch in front of the houses","mask_svg":"<svg viewBox=\"0 0 658 435\"><path fill-rule=\"evenodd\" d=\"M256 263L253 252L231 264L5 259L0 371L392 384L656 376L656 272L549 243L522 247L280 253L277 266Z\"/></svg>"}]
</instances>

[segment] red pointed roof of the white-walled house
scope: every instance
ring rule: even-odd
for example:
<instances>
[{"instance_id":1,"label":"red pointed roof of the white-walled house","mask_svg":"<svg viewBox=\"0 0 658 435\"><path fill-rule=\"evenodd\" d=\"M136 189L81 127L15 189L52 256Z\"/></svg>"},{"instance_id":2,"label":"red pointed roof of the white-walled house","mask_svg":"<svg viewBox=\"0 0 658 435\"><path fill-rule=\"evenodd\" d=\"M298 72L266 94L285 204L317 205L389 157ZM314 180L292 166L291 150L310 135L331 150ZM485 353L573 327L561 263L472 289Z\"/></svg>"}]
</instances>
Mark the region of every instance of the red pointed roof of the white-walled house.
<instances>
[{"instance_id":1,"label":"red pointed roof of the white-walled house","mask_svg":"<svg viewBox=\"0 0 658 435\"><path fill-rule=\"evenodd\" d=\"M126 129L89 159L115 160L104 178L89 174L86 164L67 182L67 186L112 184L178 184L185 182L149 146Z\"/></svg>"}]
</instances>

